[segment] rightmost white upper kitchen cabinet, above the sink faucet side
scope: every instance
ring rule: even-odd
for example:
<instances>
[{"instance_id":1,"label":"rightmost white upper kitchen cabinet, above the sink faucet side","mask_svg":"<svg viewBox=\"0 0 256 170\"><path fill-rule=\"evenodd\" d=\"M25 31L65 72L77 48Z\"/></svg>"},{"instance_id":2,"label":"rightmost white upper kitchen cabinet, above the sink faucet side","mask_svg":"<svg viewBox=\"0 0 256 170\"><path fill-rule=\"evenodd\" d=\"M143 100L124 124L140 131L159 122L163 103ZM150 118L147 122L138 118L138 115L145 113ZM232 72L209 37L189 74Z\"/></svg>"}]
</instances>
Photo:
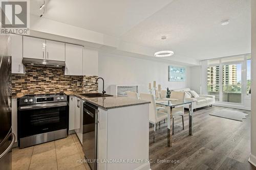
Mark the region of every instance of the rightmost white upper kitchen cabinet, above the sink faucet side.
<instances>
[{"instance_id":1,"label":"rightmost white upper kitchen cabinet, above the sink faucet side","mask_svg":"<svg viewBox=\"0 0 256 170\"><path fill-rule=\"evenodd\" d=\"M83 75L98 76L98 51L83 48Z\"/></svg>"}]
</instances>

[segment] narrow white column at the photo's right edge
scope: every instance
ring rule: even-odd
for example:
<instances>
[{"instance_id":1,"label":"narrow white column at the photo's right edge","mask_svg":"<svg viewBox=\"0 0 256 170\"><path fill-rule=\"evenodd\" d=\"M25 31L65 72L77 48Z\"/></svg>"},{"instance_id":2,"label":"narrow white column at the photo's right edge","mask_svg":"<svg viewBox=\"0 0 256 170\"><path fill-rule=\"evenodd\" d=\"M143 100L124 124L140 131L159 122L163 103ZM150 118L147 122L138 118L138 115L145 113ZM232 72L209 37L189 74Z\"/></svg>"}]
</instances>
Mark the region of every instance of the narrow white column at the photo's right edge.
<instances>
[{"instance_id":1,"label":"narrow white column at the photo's right edge","mask_svg":"<svg viewBox=\"0 0 256 170\"><path fill-rule=\"evenodd\" d=\"M256 1L251 1L251 91L251 154L249 162L256 166Z\"/></svg>"}]
</instances>

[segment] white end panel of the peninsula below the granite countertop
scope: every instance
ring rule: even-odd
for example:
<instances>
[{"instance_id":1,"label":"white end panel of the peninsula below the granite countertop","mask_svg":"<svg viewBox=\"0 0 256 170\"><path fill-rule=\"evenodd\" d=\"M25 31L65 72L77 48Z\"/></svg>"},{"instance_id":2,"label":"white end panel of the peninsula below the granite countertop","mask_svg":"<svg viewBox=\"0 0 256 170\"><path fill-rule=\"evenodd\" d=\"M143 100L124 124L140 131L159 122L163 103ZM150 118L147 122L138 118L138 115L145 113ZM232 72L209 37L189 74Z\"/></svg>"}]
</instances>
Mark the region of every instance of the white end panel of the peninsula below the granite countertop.
<instances>
[{"instance_id":1,"label":"white end panel of the peninsula below the granite countertop","mask_svg":"<svg viewBox=\"0 0 256 170\"><path fill-rule=\"evenodd\" d=\"M97 159L114 160L121 158L125 160L148 160L149 104L120 107L108 110L98 108L98 110ZM132 128L130 126L131 122L133 123ZM87 147L87 145L85 147ZM100 162L97 164L97 166L97 169L100 170L150 169L150 162Z\"/></svg>"}]
</instances>

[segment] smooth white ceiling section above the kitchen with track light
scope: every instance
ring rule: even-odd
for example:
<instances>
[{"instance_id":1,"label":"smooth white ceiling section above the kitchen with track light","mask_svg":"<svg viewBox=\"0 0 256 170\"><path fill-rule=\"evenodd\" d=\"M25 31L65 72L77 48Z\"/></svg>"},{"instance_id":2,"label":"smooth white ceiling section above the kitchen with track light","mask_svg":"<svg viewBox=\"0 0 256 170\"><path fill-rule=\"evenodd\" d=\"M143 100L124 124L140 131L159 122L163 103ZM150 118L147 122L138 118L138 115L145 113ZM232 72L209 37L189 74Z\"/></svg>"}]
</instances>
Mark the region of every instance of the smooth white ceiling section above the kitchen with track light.
<instances>
[{"instance_id":1,"label":"smooth white ceiling section above the kitchen with track light","mask_svg":"<svg viewBox=\"0 0 256 170\"><path fill-rule=\"evenodd\" d=\"M173 0L46 0L45 18L119 37ZM40 16L43 0L30 1Z\"/></svg>"}]
</instances>

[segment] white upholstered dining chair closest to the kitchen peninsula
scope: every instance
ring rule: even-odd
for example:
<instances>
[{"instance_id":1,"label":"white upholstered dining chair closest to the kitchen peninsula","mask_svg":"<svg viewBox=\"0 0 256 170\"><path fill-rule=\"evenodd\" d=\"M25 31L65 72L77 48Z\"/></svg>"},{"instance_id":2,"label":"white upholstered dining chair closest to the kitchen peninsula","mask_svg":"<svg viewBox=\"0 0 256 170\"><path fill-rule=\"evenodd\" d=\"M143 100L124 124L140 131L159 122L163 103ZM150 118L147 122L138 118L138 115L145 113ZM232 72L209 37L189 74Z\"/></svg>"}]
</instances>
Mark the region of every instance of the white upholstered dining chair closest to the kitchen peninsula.
<instances>
[{"instance_id":1,"label":"white upholstered dining chair closest to the kitchen peninsula","mask_svg":"<svg viewBox=\"0 0 256 170\"><path fill-rule=\"evenodd\" d=\"M154 125L154 142L155 142L155 133L157 129L157 123L160 123L161 120L166 119L167 113L157 111L156 101L153 94L140 93L140 99L151 102L150 103L150 123Z\"/></svg>"}]
</instances>

